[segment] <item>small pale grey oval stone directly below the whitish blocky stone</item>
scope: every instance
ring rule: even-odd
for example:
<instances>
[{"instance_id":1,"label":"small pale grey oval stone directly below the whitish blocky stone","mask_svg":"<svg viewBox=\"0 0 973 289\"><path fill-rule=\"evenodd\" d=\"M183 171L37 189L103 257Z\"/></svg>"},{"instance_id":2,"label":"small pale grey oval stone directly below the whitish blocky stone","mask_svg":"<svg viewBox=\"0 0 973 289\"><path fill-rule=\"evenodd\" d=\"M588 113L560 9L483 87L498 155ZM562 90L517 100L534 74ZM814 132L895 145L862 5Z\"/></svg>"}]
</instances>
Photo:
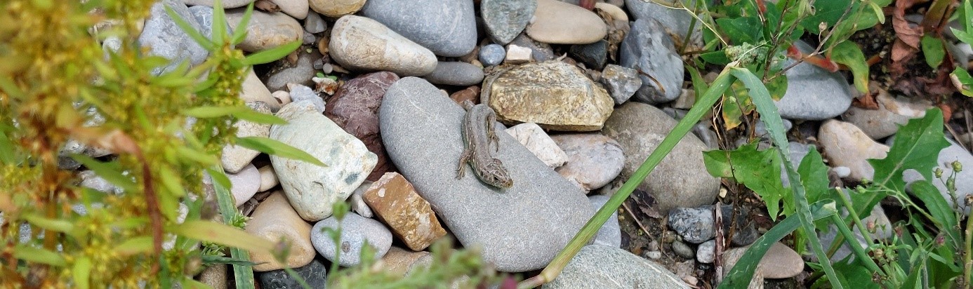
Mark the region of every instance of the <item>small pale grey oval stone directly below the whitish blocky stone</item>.
<instances>
[{"instance_id":1,"label":"small pale grey oval stone directly below the whitish blocky stone","mask_svg":"<svg viewBox=\"0 0 973 289\"><path fill-rule=\"evenodd\" d=\"M341 244L336 246L331 235L324 232L324 229L336 230L339 226L342 231ZM318 254L325 259L335 262L335 257L338 257L338 264L351 267L361 263L360 253L366 244L375 249L375 259L385 256L385 252L392 246L392 233L376 220L349 212L344 215L341 225L334 216L318 221L311 229L310 241ZM338 248L341 249L340 254L336 251Z\"/></svg>"}]
</instances>

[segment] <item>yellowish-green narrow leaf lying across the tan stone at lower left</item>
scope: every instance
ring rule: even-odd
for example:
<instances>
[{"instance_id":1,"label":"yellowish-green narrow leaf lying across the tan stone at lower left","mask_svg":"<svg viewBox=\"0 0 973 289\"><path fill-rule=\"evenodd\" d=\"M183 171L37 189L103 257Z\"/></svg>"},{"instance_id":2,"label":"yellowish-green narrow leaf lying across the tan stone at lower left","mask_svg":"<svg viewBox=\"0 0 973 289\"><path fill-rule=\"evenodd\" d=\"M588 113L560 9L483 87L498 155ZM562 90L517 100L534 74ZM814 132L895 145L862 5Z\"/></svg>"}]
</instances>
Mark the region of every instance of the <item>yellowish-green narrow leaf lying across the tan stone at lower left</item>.
<instances>
[{"instance_id":1,"label":"yellowish-green narrow leaf lying across the tan stone at lower left","mask_svg":"<svg viewBox=\"0 0 973 289\"><path fill-rule=\"evenodd\" d=\"M237 228L209 221L186 221L168 227L169 232L251 252L273 252L276 244Z\"/></svg>"}]
</instances>

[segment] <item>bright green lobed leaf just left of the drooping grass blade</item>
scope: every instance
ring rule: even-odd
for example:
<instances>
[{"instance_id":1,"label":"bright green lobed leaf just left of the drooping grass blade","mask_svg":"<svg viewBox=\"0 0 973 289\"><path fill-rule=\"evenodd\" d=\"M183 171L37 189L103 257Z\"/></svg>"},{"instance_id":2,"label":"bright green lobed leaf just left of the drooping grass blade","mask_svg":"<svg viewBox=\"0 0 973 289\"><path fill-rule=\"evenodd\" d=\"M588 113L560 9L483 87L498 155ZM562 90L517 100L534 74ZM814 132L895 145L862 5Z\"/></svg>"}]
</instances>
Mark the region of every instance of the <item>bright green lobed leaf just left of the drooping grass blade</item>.
<instances>
[{"instance_id":1,"label":"bright green lobed leaf just left of the drooping grass blade","mask_svg":"<svg viewBox=\"0 0 973 289\"><path fill-rule=\"evenodd\" d=\"M703 152L703 163L709 174L736 180L760 195L767 203L771 219L776 220L780 199L789 195L789 190L780 183L780 154L777 150L758 151L757 144L751 143L733 151Z\"/></svg>"}]
</instances>

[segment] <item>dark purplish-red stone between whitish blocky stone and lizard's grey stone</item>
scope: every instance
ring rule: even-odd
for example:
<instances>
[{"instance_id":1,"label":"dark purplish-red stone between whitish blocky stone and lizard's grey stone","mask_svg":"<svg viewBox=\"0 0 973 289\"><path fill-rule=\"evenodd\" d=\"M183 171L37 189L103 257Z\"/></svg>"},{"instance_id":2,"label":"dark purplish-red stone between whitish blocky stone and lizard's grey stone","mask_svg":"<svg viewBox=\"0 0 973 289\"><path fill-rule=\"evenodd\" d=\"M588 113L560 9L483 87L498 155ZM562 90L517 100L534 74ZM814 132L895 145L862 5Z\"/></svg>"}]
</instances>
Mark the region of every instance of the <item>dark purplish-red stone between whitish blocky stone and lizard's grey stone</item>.
<instances>
[{"instance_id":1,"label":"dark purplish-red stone between whitish blocky stone and lizard's grey stone","mask_svg":"<svg viewBox=\"0 0 973 289\"><path fill-rule=\"evenodd\" d=\"M386 172L395 171L381 144L378 106L385 90L398 80L398 76L387 71L359 76L344 83L335 96L328 99L324 108L326 117L360 139L370 152L378 156L378 163L367 178L370 181L378 180Z\"/></svg>"}]
</instances>

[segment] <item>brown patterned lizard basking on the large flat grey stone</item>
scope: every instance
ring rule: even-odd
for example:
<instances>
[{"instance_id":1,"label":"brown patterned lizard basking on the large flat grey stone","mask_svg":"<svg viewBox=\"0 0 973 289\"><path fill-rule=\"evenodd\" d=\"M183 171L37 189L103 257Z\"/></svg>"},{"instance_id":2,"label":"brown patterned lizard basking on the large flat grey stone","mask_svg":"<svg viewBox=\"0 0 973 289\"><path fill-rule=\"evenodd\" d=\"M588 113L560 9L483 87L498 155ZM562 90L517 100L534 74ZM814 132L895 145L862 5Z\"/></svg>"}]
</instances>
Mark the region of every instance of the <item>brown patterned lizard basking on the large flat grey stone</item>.
<instances>
[{"instance_id":1,"label":"brown patterned lizard basking on the large flat grey stone","mask_svg":"<svg viewBox=\"0 0 973 289\"><path fill-rule=\"evenodd\" d=\"M466 116L463 119L463 150L456 166L456 179L462 178L466 172L466 163L470 163L474 174L484 183L505 189L514 185L507 168L500 160L490 156L490 145L494 152L500 149L500 138L496 136L493 124L496 123L496 113L486 104L474 105L472 101L463 101Z\"/></svg>"}]
</instances>

